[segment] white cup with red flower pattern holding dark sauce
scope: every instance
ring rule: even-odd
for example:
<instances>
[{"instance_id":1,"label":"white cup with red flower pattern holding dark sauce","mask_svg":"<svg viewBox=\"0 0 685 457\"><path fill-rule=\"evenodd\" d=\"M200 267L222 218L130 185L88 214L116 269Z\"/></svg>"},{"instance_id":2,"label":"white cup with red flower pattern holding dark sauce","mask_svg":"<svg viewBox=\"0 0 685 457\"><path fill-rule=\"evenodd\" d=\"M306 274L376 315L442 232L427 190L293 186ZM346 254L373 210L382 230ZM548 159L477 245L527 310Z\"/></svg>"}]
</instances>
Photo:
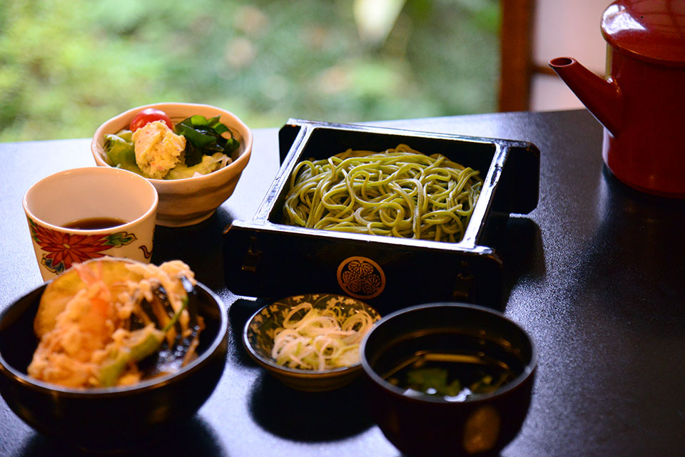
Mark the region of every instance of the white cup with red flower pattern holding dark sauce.
<instances>
[{"instance_id":1,"label":"white cup with red flower pattern holding dark sauce","mask_svg":"<svg viewBox=\"0 0 685 457\"><path fill-rule=\"evenodd\" d=\"M24 211L44 280L98 257L150 262L158 196L142 176L118 168L76 168L26 191Z\"/></svg>"}]
</instances>

